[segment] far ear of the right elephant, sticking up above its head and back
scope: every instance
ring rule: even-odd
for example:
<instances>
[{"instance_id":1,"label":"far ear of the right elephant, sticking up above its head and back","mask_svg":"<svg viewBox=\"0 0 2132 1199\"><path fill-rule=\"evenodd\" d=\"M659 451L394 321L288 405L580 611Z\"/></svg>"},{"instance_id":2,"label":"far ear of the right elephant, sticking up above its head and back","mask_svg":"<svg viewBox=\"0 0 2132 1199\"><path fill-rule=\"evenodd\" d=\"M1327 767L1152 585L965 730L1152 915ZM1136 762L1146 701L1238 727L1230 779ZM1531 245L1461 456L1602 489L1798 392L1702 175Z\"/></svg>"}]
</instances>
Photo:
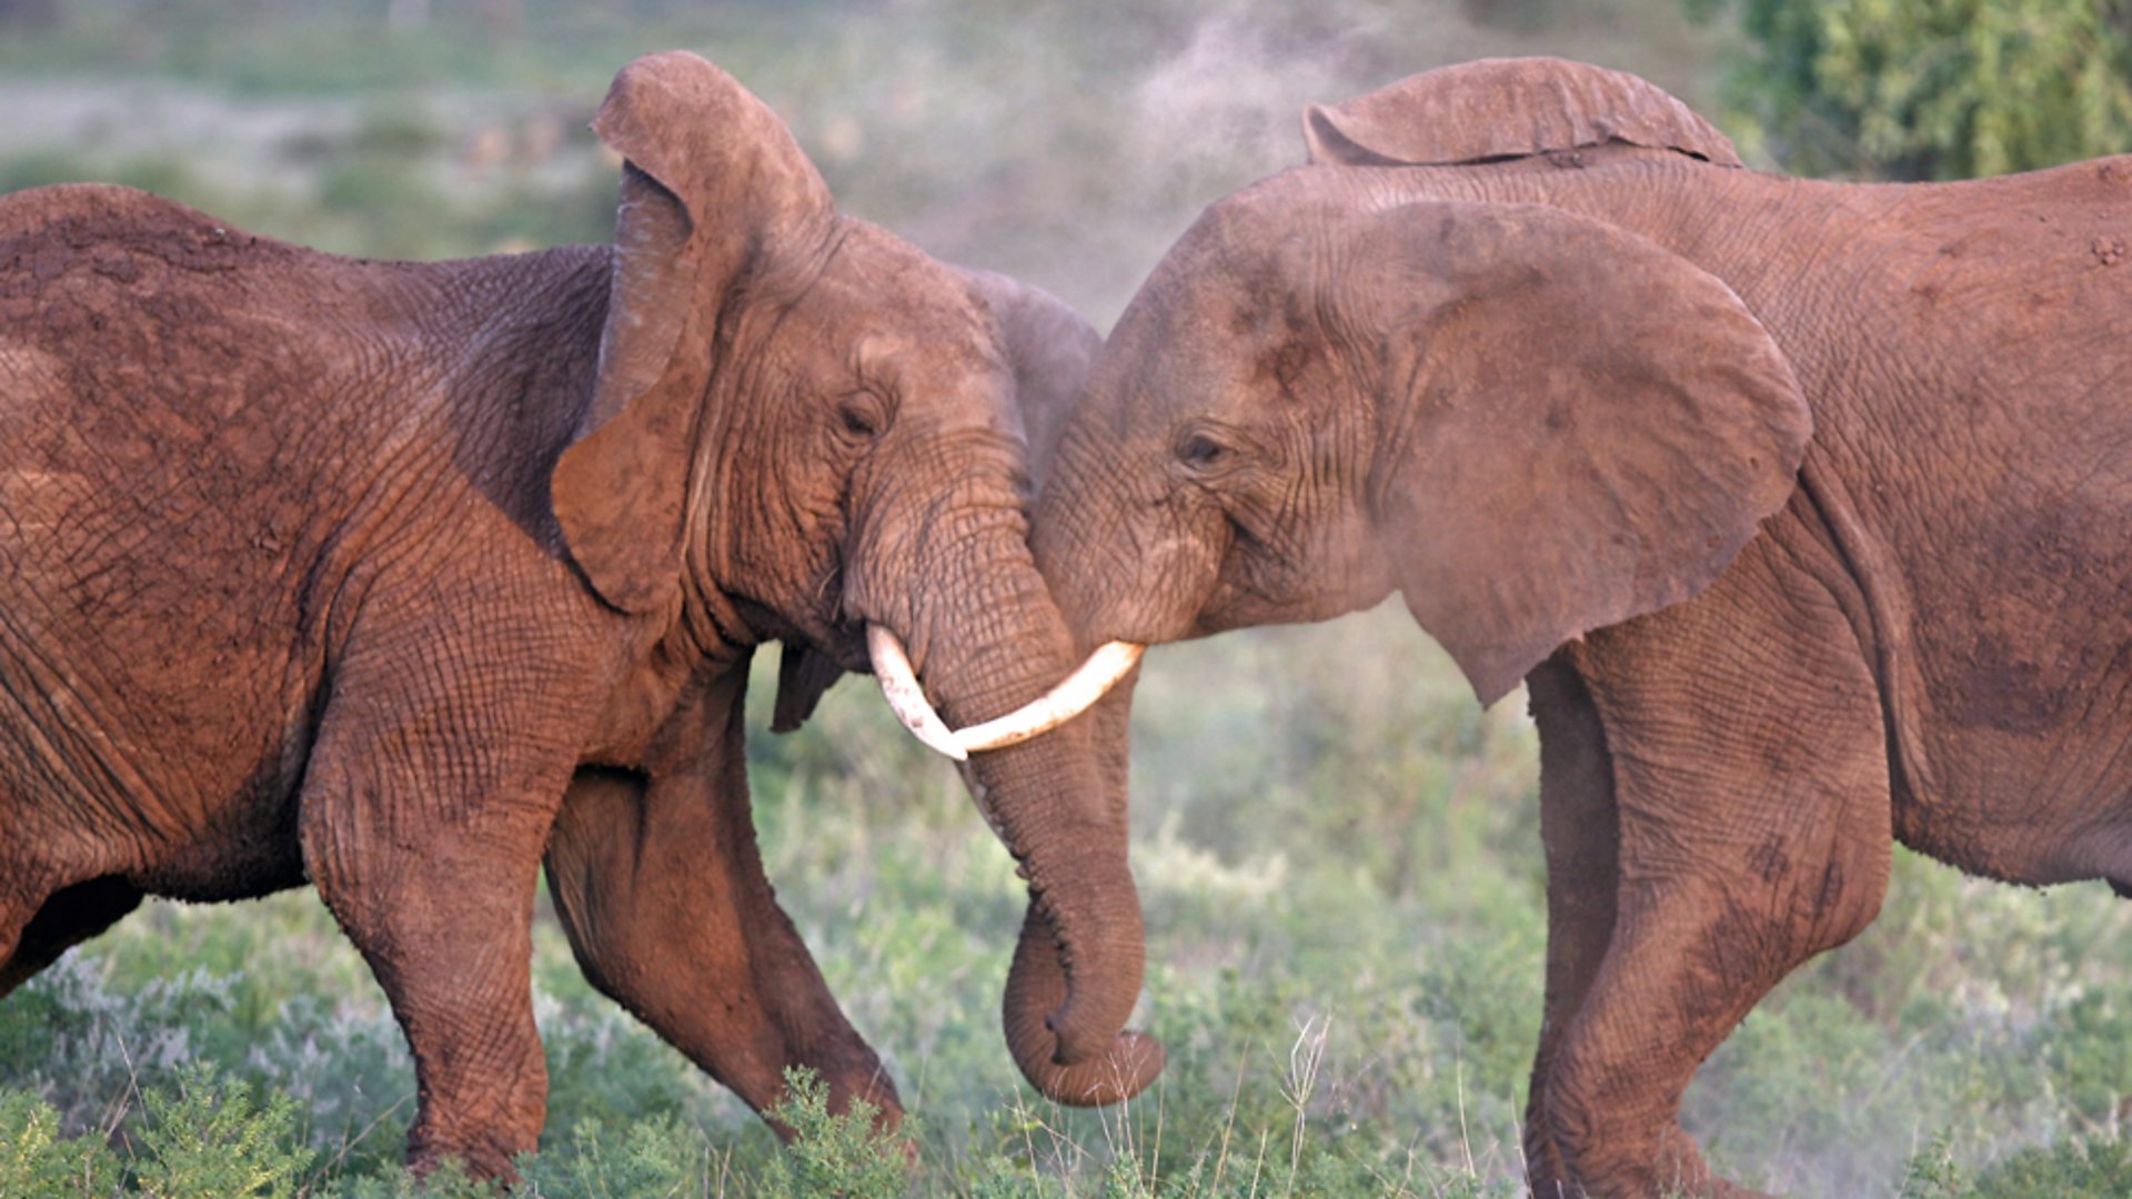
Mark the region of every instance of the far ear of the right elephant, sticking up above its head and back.
<instances>
[{"instance_id":1,"label":"far ear of the right elephant, sticking up above its head and back","mask_svg":"<svg viewBox=\"0 0 2132 1199\"><path fill-rule=\"evenodd\" d=\"M1561 58L1484 58L1409 75L1339 107L1311 105L1313 164L1452 166L1625 141L1740 166L1731 141L1625 70Z\"/></svg>"}]
</instances>

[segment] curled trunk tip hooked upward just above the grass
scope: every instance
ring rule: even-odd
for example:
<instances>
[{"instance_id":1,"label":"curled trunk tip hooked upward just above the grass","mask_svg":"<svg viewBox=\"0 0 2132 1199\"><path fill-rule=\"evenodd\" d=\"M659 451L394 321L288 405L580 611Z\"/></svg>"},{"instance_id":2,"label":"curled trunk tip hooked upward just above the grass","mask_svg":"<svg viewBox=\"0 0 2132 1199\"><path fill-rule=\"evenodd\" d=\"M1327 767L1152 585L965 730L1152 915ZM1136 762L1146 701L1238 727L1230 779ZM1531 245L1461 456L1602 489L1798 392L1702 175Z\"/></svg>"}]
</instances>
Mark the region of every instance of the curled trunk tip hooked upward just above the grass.
<instances>
[{"instance_id":1,"label":"curled trunk tip hooked upward just above the grass","mask_svg":"<svg viewBox=\"0 0 2132 1199\"><path fill-rule=\"evenodd\" d=\"M1051 924L1030 905L1006 973L1002 1020L1006 1048L1045 1099L1068 1107L1102 1107L1147 1090L1168 1060L1162 1041L1145 1033L1117 1033L1109 1045L1075 1045L1064 1011L1066 973ZM1062 1030L1055 1030L1064 1028ZM1070 1065L1062 1065L1062 1058Z\"/></svg>"}]
</instances>

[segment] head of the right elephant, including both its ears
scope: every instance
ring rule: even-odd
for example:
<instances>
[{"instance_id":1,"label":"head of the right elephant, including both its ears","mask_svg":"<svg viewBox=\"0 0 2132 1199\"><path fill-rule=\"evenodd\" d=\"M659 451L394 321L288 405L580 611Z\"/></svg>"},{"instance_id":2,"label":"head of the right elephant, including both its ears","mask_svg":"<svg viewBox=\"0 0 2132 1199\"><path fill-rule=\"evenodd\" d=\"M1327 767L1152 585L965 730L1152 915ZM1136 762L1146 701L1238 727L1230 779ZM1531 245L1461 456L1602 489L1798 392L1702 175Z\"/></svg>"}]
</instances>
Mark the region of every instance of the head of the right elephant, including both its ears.
<instances>
[{"instance_id":1,"label":"head of the right elephant, including both its ears","mask_svg":"<svg viewBox=\"0 0 2132 1199\"><path fill-rule=\"evenodd\" d=\"M1787 501L1810 416L1725 284L1597 220L1473 198L1454 166L1392 166L1608 141L1735 162L1663 92L1569 66L1473 64L1313 109L1313 166L1213 205L1166 254L1034 510L1081 644L1320 621L1396 589L1492 704L1565 640L1706 587ZM1431 122L1469 94L1492 98L1492 134ZM1608 102L1627 115L1561 117Z\"/></svg>"}]
</instances>

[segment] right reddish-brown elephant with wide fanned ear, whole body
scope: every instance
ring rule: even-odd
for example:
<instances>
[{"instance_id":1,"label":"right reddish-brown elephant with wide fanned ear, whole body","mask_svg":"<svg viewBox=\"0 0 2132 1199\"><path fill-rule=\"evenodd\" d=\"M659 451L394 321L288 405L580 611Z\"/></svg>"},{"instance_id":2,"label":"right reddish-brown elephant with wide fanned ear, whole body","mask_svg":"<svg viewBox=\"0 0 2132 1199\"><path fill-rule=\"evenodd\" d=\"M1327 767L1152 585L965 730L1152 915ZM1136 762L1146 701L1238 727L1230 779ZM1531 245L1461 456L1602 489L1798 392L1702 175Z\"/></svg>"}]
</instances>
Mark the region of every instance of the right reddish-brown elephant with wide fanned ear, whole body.
<instances>
[{"instance_id":1,"label":"right reddish-brown elephant with wide fanned ear, whole body","mask_svg":"<svg viewBox=\"0 0 2132 1199\"><path fill-rule=\"evenodd\" d=\"M1527 681L1539 1195L1731 1190L1682 1090L1891 841L2132 881L2132 158L1819 183L1676 109L1550 60L1313 109L1132 301L1034 512L1083 646L1399 591L1484 702Z\"/></svg>"}]
</instances>

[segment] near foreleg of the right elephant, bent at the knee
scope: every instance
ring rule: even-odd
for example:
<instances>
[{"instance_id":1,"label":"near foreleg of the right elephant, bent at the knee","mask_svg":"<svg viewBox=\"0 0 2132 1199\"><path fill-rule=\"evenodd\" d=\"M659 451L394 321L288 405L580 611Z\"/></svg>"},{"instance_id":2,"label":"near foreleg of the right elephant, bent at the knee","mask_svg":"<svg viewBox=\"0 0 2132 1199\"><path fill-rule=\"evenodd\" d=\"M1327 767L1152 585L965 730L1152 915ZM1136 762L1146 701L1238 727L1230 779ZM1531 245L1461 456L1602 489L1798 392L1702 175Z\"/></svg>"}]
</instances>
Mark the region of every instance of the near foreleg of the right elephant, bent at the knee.
<instances>
[{"instance_id":1,"label":"near foreleg of the right elephant, bent at the knee","mask_svg":"<svg viewBox=\"0 0 2132 1199\"><path fill-rule=\"evenodd\" d=\"M1571 1013L1535 1071L1535 1190L1738 1195L1680 1131L1680 1097L1778 979L1878 913L1891 826L1872 674L1829 593L1753 550L1701 602L1565 659L1605 732L1618 881L1595 969L1550 945L1548 1018Z\"/></svg>"}]
</instances>

